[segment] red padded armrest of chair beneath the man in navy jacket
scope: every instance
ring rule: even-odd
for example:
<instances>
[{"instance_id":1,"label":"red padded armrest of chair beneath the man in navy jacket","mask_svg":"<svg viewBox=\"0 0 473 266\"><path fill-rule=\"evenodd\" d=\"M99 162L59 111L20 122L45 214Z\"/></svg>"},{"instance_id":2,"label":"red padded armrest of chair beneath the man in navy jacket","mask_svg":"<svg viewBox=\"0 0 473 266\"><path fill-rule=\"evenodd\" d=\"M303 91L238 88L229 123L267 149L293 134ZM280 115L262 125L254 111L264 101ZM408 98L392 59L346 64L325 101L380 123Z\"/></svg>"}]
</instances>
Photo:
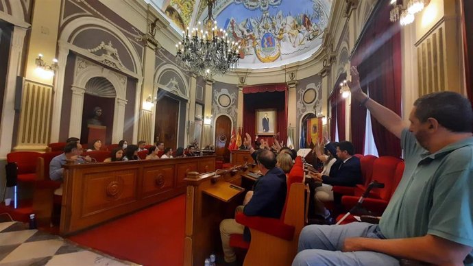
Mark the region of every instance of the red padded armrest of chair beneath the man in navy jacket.
<instances>
[{"instance_id":1,"label":"red padded armrest of chair beneath the man in navy jacket","mask_svg":"<svg viewBox=\"0 0 473 266\"><path fill-rule=\"evenodd\" d=\"M248 228L271 234L274 237L291 241L294 238L294 226L288 226L283 223L280 219L266 218L259 216L246 216L243 213L237 213L235 215L237 223L243 224Z\"/></svg>"}]
</instances>

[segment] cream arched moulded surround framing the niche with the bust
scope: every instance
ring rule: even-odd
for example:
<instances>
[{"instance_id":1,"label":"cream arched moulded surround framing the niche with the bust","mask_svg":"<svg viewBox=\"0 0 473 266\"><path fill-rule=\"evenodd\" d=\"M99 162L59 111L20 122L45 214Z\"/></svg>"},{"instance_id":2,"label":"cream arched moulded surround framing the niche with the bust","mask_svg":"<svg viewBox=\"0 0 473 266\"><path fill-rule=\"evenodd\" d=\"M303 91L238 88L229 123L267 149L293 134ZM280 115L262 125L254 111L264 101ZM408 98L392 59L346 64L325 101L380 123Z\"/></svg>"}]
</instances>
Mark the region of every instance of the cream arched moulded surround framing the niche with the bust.
<instances>
[{"instance_id":1,"label":"cream arched moulded surround framing the niche with the bust","mask_svg":"<svg viewBox=\"0 0 473 266\"><path fill-rule=\"evenodd\" d=\"M71 114L73 115L71 115L69 123L69 136L80 136L81 134L83 117L82 109L84 106L86 84L94 77L104 77L108 82L110 82L110 84L112 84L115 90L116 96L114 97L112 143L118 143L123 136L123 127L125 123L127 77L80 57L77 57L75 61L73 85L71 86L71 90L73 91Z\"/></svg>"}]
</instances>

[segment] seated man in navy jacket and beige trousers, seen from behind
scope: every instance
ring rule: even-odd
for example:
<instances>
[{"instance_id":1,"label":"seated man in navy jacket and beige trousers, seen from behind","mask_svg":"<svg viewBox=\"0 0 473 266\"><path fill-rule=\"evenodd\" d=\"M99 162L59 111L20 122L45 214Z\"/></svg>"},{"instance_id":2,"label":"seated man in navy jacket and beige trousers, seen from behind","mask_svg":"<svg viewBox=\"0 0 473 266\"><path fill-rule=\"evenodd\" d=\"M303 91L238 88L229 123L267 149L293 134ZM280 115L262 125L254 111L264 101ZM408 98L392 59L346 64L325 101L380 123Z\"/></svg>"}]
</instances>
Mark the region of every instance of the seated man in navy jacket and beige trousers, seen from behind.
<instances>
[{"instance_id":1,"label":"seated man in navy jacket and beige trousers, seen from behind","mask_svg":"<svg viewBox=\"0 0 473 266\"><path fill-rule=\"evenodd\" d=\"M243 213L248 216L280 218L286 201L286 175L276 167L276 156L267 149L258 154L256 161L263 176L256 181L254 193L243 207ZM249 239L250 232L245 230L245 226L234 219L221 221L220 237L226 263L233 263L237 258L233 248L230 247L230 234L243 234L243 232L245 240Z\"/></svg>"}]
</instances>

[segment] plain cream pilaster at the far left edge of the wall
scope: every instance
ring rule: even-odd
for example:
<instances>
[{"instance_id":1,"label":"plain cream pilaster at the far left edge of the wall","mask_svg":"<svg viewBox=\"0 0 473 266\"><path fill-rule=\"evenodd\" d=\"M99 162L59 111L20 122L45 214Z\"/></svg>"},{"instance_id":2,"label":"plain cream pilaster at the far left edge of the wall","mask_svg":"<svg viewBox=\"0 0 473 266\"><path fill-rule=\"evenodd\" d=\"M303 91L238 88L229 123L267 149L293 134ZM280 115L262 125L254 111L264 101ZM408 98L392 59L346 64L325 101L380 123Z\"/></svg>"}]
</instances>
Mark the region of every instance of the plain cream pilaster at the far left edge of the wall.
<instances>
[{"instance_id":1,"label":"plain cream pilaster at the far left edge of the wall","mask_svg":"<svg viewBox=\"0 0 473 266\"><path fill-rule=\"evenodd\" d=\"M15 88L16 76L21 68L21 58L23 43L25 43L26 29L14 27L12 32L12 46L10 47L10 58L8 60L8 70L5 83L5 95L3 99L3 110L0 128L0 158L5 158L11 150L12 136L15 119ZM19 95L21 97L21 95Z\"/></svg>"}]
</instances>

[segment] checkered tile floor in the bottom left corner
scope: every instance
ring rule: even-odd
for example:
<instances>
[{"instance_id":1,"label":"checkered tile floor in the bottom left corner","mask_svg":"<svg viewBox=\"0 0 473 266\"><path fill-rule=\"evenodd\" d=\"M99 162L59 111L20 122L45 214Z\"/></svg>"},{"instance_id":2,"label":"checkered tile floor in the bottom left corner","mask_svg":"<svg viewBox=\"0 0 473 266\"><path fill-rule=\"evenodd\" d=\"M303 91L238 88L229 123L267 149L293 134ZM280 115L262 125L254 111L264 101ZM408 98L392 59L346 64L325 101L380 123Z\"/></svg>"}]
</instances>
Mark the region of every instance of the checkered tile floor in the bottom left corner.
<instances>
[{"instance_id":1,"label":"checkered tile floor in the bottom left corner","mask_svg":"<svg viewBox=\"0 0 473 266\"><path fill-rule=\"evenodd\" d=\"M24 223L0 223L0 266L10 265L136 265L38 230Z\"/></svg>"}]
</instances>

